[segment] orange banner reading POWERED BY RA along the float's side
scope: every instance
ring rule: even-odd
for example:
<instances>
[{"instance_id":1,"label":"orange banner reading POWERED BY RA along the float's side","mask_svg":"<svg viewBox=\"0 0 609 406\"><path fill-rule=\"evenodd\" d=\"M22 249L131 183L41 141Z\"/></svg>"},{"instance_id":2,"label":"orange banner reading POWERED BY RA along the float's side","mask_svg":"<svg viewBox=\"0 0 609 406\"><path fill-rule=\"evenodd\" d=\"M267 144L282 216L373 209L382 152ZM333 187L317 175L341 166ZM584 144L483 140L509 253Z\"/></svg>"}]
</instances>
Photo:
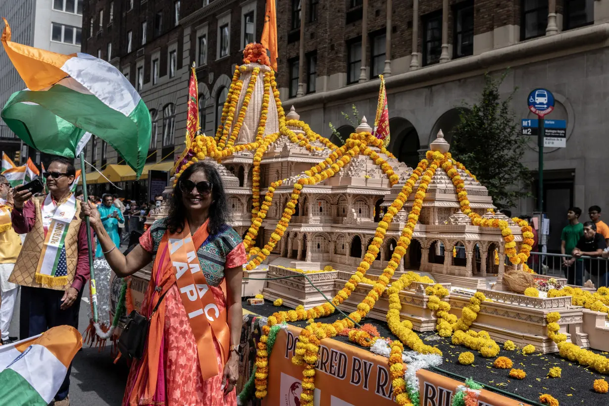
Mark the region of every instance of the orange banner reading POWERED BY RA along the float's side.
<instances>
[{"instance_id":1,"label":"orange banner reading POWERED BY RA along the float's side","mask_svg":"<svg viewBox=\"0 0 609 406\"><path fill-rule=\"evenodd\" d=\"M302 366L292 364L301 329L287 326L277 334L269 359L268 394L263 406L300 406ZM322 340L315 374L314 406L395 406L387 359L331 338ZM421 406L450 406L452 394L463 385L421 369ZM428 391L425 397L424 390ZM482 390L478 406L524 405Z\"/></svg>"}]
</instances>

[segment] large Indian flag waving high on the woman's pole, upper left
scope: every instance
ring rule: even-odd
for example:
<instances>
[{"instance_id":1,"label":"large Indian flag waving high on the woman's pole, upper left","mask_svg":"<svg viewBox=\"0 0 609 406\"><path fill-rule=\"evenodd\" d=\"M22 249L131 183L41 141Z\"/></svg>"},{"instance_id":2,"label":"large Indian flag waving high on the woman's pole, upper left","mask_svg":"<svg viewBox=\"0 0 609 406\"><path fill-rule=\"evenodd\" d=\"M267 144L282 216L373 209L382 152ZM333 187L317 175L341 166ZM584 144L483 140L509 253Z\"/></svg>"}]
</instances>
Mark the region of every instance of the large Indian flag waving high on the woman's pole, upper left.
<instances>
[{"instance_id":1,"label":"large Indian flag waving high on the woman's pole, upper left","mask_svg":"<svg viewBox=\"0 0 609 406\"><path fill-rule=\"evenodd\" d=\"M150 113L127 78L88 54L62 55L10 40L2 45L27 88L10 96L1 117L34 149L76 158L91 134L108 142L141 175L150 145Z\"/></svg>"}]
</instances>

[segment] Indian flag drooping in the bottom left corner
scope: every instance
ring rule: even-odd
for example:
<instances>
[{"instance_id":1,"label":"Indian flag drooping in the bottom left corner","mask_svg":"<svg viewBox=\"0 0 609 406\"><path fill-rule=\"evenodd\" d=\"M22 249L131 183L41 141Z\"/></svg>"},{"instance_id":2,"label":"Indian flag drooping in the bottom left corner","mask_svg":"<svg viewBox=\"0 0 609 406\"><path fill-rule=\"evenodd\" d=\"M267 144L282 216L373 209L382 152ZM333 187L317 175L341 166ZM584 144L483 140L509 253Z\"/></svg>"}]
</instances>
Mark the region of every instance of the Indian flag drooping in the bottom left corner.
<instances>
[{"instance_id":1,"label":"Indian flag drooping in the bottom left corner","mask_svg":"<svg viewBox=\"0 0 609 406\"><path fill-rule=\"evenodd\" d=\"M80 333L58 326L41 335L0 347L0 399L3 405L46 406L54 399L74 355Z\"/></svg>"}]
</instances>

